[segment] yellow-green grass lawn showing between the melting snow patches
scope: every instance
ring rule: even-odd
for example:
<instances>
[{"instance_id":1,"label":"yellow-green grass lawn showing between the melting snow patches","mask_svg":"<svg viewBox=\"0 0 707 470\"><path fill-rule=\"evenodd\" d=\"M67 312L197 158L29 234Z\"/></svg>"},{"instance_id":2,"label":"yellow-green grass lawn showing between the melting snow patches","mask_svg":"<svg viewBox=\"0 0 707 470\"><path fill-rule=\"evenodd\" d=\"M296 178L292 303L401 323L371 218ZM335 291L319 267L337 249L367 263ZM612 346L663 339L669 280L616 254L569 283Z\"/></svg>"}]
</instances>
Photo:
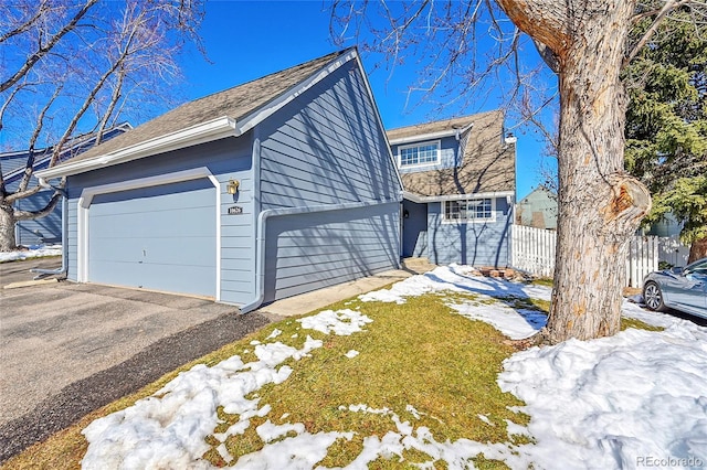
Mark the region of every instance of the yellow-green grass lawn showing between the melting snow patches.
<instances>
[{"instance_id":1,"label":"yellow-green grass lawn showing between the melting snow patches","mask_svg":"<svg viewBox=\"0 0 707 470\"><path fill-rule=\"evenodd\" d=\"M397 431L393 414L401 421L410 421L415 429L429 428L437 442L465 438L478 442L508 442L509 446L527 444L528 437L509 436L507 429L507 420L527 425L528 416L509 409L523 403L510 394L502 393L496 383L503 361L515 352L514 343L489 324L455 313L445 306L450 298L454 302L478 300L474 295L429 293L409 298L404 305L349 300L330 306L334 310L360 309L373 320L366 325L366 331L349 337L303 330L294 318L273 323L258 333L184 365L133 396L92 413L73 427L11 459L3 468L78 468L87 448L81 430L93 419L154 394L178 372L197 363L213 365L234 354L244 362L255 361L251 342L266 342L275 329L282 333L267 341L300 348L309 334L324 341L324 346L313 351L310 357L296 362L288 360L285 364L294 370L289 378L257 391L258 406L268 404L272 409L264 417L251 418L251 425L243 435L225 440L229 452L234 456L231 463L263 448L265 442L255 428L268 419L274 424L302 423L313 434L355 432L350 440L339 439L328 448L327 457L319 462L326 467L350 463L361 452L363 438L382 438L389 431ZM510 298L499 301L540 311L548 308L548 303L542 301ZM644 327L635 321L624 324L624 328ZM347 357L345 354L351 350L358 351L359 355ZM374 409L388 408L390 413L371 414L349 408L359 404ZM214 432L223 432L239 420L238 415L228 415L223 409L219 409L219 417L223 423ZM207 442L212 449L203 457L214 466L226 466L215 450L220 442L212 436L207 438ZM409 451L402 462L398 458L379 458L371 467L410 468L412 463L430 460L431 456L423 452ZM487 460L481 455L475 464L507 468L504 462ZM446 462L437 460L434 466L446 468Z\"/></svg>"}]
</instances>

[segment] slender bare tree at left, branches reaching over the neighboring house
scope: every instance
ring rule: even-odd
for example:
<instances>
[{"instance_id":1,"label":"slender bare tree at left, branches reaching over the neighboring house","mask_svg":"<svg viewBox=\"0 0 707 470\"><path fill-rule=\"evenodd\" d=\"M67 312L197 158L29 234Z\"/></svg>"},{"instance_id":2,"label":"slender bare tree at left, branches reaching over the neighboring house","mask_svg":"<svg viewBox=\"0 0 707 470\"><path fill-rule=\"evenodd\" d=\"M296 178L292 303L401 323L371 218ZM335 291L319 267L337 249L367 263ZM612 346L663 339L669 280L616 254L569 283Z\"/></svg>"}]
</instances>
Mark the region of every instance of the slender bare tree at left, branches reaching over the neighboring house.
<instances>
[{"instance_id":1,"label":"slender bare tree at left, branches reaching over the neighboring house","mask_svg":"<svg viewBox=\"0 0 707 470\"><path fill-rule=\"evenodd\" d=\"M15 247L18 221L49 214L61 199L57 191L39 211L15 207L42 189L33 178L38 157L51 156L54 165L78 133L97 145L120 119L154 115L175 98L178 53L187 43L203 53L202 7L202 0L0 6L0 131L28 156L19 183L6 184L0 171L0 252Z\"/></svg>"}]
</instances>

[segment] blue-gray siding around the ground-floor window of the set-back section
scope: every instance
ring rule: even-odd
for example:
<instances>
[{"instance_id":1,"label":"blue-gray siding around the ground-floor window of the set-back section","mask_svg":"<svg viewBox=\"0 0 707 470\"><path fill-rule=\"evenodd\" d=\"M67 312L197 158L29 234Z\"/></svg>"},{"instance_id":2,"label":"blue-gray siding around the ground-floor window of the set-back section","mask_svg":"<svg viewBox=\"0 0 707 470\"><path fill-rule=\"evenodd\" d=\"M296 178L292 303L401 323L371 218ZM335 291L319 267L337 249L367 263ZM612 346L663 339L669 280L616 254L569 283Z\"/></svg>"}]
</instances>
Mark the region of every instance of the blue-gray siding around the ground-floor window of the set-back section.
<instances>
[{"instance_id":1,"label":"blue-gray siding around the ground-floor window of the set-back section","mask_svg":"<svg viewBox=\"0 0 707 470\"><path fill-rule=\"evenodd\" d=\"M458 263L471 266L510 265L511 210L505 197L496 199L496 222L442 223L442 203L428 206L430 260L437 265Z\"/></svg>"}]
</instances>

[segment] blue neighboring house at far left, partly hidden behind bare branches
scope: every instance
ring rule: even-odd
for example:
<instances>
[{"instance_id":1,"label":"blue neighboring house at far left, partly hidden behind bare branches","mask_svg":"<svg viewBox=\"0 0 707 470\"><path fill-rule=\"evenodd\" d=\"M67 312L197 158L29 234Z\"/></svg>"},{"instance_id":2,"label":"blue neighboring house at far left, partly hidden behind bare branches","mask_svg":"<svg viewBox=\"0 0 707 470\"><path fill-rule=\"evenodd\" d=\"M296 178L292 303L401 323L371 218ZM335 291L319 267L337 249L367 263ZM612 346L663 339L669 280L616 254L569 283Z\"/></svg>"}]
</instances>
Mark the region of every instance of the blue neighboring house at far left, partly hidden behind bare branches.
<instances>
[{"instance_id":1,"label":"blue neighboring house at far left, partly hidden behind bare branches","mask_svg":"<svg viewBox=\"0 0 707 470\"><path fill-rule=\"evenodd\" d=\"M109 140L127 130L131 129L128 122L117 125L103 133L103 140ZM81 152L86 151L94 146L96 141L95 133L86 133L72 139L65 150L61 152L57 161L64 162ZM53 148L40 149L35 151L33 171L44 170L49 167L52 159ZM20 186L29 151L15 151L0 153L0 168L2 168L2 178L6 189L9 193L14 193ZM36 186L38 181L34 175L28 185L28 189ZM36 194L23 197L14 203L14 207L21 211L39 211L46 207L46 204L54 194L53 190L43 189ZM30 246L43 243L61 243L62 241L62 210L57 204L54 211L44 217L32 221L21 221L15 224L14 228L15 243L18 245Z\"/></svg>"}]
</instances>

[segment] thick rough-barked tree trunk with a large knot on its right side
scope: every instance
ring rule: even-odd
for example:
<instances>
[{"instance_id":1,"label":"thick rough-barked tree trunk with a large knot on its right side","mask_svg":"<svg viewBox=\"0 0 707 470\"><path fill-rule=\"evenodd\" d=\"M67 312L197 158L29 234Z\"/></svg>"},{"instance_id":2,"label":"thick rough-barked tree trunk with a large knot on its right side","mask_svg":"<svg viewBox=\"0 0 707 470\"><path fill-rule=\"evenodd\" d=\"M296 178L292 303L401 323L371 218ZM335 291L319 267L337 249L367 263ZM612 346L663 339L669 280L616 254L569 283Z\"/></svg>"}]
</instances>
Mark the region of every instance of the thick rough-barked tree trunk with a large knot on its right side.
<instances>
[{"instance_id":1,"label":"thick rough-barked tree trunk with a large knot on its right side","mask_svg":"<svg viewBox=\"0 0 707 470\"><path fill-rule=\"evenodd\" d=\"M542 334L552 344L614 334L627 242L651 207L647 189L624 171L625 98L619 74L635 2L499 3L532 38L555 38L542 42L559 63L558 244ZM558 24L561 30L548 31Z\"/></svg>"}]
</instances>

